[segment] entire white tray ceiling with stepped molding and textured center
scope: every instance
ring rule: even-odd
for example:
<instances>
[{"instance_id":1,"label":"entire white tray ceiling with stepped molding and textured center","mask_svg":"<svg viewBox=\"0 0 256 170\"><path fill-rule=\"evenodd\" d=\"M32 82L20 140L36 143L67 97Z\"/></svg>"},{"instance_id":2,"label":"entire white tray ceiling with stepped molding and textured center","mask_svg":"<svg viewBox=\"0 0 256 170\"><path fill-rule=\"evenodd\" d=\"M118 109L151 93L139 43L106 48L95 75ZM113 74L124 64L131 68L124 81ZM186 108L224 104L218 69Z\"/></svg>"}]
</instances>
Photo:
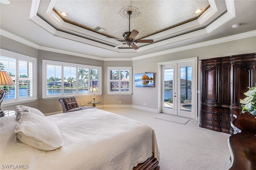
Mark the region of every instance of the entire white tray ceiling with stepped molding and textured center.
<instances>
[{"instance_id":1,"label":"entire white tray ceiling with stepped molding and textured center","mask_svg":"<svg viewBox=\"0 0 256 170\"><path fill-rule=\"evenodd\" d=\"M6 23L1 29L36 43L39 49L67 50L98 59L133 58L255 30L255 22L250 22L253 17L248 17L255 16L255 4L242 0L10 0L1 5L1 23ZM203 11L195 14L199 8ZM15 18L14 10L20 16ZM121 42L107 37L123 39L122 34L129 31L128 10L133 12L130 31L139 32L136 39L154 39L154 43L137 43L138 50L113 49ZM13 28L15 19L26 19L20 30ZM234 31L235 23L244 30ZM31 28L29 34L26 26L28 32ZM96 27L104 31L95 31Z\"/></svg>"}]
</instances>

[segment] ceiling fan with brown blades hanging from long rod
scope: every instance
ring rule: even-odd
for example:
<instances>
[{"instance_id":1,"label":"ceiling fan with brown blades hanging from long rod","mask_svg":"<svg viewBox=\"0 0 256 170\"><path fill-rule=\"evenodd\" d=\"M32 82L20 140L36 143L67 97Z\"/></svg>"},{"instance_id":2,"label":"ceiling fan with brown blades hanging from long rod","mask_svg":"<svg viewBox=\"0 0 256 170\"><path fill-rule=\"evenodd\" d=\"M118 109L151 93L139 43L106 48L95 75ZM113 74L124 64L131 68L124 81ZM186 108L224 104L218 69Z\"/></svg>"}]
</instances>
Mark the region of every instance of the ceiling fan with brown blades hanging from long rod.
<instances>
[{"instance_id":1,"label":"ceiling fan with brown blades hanging from long rod","mask_svg":"<svg viewBox=\"0 0 256 170\"><path fill-rule=\"evenodd\" d=\"M121 47L122 45L129 45L129 47L131 46L133 49L137 50L139 49L139 47L135 43L153 43L154 41L153 39L138 39L138 40L135 39L135 37L138 35L139 32L135 29L130 31L130 16L132 12L128 11L127 14L129 15L129 31L123 33L124 39L111 38L111 39L116 39L118 41L124 42L114 47L114 49ZM110 38L110 37L107 37L107 38Z\"/></svg>"}]
</instances>

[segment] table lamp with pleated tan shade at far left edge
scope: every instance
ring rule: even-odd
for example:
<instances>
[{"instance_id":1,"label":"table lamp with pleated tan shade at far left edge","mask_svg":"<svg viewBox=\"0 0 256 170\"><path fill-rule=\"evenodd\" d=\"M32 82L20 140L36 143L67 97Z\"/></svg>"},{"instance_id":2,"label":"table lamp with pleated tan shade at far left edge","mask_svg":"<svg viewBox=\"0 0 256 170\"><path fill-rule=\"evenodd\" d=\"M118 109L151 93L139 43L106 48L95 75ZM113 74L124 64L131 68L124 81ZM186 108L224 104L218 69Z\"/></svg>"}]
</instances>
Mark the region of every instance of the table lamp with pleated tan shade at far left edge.
<instances>
[{"instance_id":1,"label":"table lamp with pleated tan shade at far left edge","mask_svg":"<svg viewBox=\"0 0 256 170\"><path fill-rule=\"evenodd\" d=\"M9 76L9 74L6 71L0 70L0 86L13 86L14 82L12 81L12 78ZM4 91L0 89L0 114L2 114L4 111L2 110L1 104L4 100L4 97L8 90Z\"/></svg>"}]
</instances>

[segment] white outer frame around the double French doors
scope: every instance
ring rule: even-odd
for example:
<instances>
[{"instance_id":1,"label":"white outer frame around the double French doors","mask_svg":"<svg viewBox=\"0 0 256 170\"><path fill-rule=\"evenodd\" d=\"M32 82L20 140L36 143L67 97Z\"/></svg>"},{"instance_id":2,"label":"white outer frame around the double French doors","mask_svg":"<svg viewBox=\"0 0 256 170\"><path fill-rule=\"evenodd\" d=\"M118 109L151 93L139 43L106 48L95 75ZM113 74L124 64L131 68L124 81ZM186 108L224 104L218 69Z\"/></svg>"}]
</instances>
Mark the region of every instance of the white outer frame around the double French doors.
<instances>
[{"instance_id":1,"label":"white outer frame around the double French doors","mask_svg":"<svg viewBox=\"0 0 256 170\"><path fill-rule=\"evenodd\" d=\"M192 82L194 82L194 95L192 96L192 101L194 101L194 107L192 111L194 111L194 120L197 121L198 120L198 94L197 94L197 72L198 72L198 68L197 68L197 57L192 57L192 58L188 58L188 59L180 59L180 60L174 60L174 61L166 61L166 62L161 62L161 63L157 63L157 67L158 67L158 92L157 92L157 98L158 98L158 103L157 103L157 113L162 113L162 66L166 65L166 64L174 64L174 63L182 63L182 62L188 62L190 61L191 63L194 64L194 69L192 69L192 72L194 72L194 76L192 74Z\"/></svg>"}]
</instances>

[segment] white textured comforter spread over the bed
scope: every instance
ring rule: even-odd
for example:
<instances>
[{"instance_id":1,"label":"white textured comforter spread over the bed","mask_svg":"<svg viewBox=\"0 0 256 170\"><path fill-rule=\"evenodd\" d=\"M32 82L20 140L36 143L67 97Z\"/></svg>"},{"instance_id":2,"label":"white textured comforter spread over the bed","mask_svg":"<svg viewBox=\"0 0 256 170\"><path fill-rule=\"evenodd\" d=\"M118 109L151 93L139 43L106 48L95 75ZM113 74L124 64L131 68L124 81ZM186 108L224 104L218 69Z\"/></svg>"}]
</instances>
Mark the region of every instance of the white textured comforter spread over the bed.
<instances>
[{"instance_id":1,"label":"white textured comforter spread over the bed","mask_svg":"<svg viewBox=\"0 0 256 170\"><path fill-rule=\"evenodd\" d=\"M96 108L47 118L62 135L64 145L59 151L17 145L12 134L17 121L13 116L0 118L1 168L132 170L151 157L152 152L159 160L154 131L144 123Z\"/></svg>"}]
</instances>

